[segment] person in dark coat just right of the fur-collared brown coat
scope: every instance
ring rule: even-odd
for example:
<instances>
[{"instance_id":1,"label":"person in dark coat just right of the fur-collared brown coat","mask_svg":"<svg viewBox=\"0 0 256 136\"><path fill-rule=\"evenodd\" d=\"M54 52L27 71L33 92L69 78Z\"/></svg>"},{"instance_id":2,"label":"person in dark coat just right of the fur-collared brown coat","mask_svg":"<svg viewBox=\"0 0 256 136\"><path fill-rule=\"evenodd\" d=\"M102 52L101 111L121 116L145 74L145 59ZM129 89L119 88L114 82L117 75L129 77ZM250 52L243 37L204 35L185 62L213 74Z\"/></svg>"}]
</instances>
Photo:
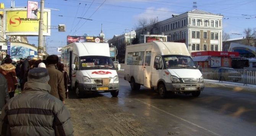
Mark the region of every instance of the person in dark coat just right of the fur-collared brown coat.
<instances>
[{"instance_id":1,"label":"person in dark coat just right of the fur-collared brown coat","mask_svg":"<svg viewBox=\"0 0 256 136\"><path fill-rule=\"evenodd\" d=\"M31 60L31 57L28 56L26 60L23 61L22 65L21 65L21 72L20 72L20 85L21 85L21 91L23 91L23 86L24 86L24 83L28 80L27 77L28 77L28 71L30 69L30 66L29 66L29 60Z\"/></svg>"}]
</instances>

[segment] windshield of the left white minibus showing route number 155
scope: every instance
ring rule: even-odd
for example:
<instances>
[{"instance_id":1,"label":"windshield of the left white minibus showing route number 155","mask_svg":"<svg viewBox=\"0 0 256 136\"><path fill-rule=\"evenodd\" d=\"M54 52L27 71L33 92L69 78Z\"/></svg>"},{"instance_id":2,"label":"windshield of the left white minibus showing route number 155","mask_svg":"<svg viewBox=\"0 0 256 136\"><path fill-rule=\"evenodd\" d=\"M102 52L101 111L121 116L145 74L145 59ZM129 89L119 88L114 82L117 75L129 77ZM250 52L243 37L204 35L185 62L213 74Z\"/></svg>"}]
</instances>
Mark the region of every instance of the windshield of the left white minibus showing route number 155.
<instances>
[{"instance_id":1,"label":"windshield of the left white minibus showing route number 155","mask_svg":"<svg viewBox=\"0 0 256 136\"><path fill-rule=\"evenodd\" d=\"M114 69L113 62L107 56L81 56L81 70L87 69Z\"/></svg>"}]
</instances>

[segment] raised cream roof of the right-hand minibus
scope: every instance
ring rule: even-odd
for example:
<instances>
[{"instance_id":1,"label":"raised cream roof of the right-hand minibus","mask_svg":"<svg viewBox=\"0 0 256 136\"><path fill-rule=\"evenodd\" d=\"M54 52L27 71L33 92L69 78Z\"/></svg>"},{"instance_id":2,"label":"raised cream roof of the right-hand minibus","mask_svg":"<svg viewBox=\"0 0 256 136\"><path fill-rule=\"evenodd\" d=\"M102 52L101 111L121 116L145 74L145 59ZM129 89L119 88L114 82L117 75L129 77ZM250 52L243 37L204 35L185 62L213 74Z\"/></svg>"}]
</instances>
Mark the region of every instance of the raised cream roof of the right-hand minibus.
<instances>
[{"instance_id":1,"label":"raised cream roof of the right-hand minibus","mask_svg":"<svg viewBox=\"0 0 256 136\"><path fill-rule=\"evenodd\" d=\"M136 45L129 45L126 48L136 48L139 50L150 50L152 49L153 53L160 55L185 55L190 56L188 49L185 43L176 43L176 42L160 42L154 41L150 43L141 43Z\"/></svg>"}]
</instances>

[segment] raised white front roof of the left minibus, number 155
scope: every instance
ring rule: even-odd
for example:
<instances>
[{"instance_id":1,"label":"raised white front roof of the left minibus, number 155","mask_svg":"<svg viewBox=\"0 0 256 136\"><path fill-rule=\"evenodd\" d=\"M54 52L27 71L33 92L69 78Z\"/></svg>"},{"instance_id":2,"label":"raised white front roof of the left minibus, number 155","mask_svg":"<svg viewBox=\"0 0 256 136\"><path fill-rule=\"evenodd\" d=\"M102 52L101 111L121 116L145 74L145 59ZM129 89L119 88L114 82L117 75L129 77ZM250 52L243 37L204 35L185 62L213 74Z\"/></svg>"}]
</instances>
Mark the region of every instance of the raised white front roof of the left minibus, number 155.
<instances>
[{"instance_id":1,"label":"raised white front roof of the left minibus, number 155","mask_svg":"<svg viewBox=\"0 0 256 136\"><path fill-rule=\"evenodd\" d=\"M73 44L73 53L78 56L108 56L110 57L109 52L109 43L72 43Z\"/></svg>"}]
</instances>

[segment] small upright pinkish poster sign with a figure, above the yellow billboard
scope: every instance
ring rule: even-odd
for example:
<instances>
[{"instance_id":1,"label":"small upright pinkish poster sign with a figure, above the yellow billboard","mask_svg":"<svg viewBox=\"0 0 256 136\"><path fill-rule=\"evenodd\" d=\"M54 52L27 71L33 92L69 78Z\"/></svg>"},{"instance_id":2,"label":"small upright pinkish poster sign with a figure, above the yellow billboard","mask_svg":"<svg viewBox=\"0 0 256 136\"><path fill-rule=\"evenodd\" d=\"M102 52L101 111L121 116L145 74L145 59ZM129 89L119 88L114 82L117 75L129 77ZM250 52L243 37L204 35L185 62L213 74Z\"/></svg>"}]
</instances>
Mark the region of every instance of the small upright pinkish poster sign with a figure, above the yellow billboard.
<instances>
[{"instance_id":1,"label":"small upright pinkish poster sign with a figure, above the yellow billboard","mask_svg":"<svg viewBox=\"0 0 256 136\"><path fill-rule=\"evenodd\" d=\"M27 18L37 19L38 2L28 1Z\"/></svg>"}]
</instances>

